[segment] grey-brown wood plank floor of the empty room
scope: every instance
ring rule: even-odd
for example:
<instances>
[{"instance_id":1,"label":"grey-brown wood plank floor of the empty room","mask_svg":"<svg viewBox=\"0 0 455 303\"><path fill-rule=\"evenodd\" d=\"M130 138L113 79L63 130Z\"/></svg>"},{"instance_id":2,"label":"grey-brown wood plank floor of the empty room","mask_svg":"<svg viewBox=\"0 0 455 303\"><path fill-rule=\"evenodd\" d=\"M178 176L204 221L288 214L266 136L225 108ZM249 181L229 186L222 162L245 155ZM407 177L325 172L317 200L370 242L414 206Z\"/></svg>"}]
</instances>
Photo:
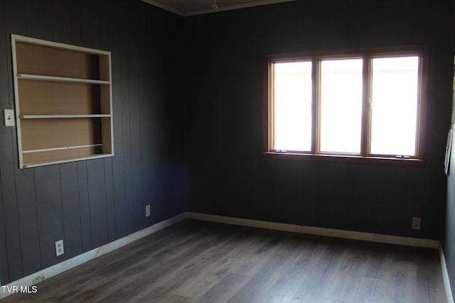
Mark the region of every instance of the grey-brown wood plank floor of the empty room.
<instances>
[{"instance_id":1,"label":"grey-brown wood plank floor of the empty room","mask_svg":"<svg viewBox=\"0 0 455 303\"><path fill-rule=\"evenodd\" d=\"M9 302L446 302L437 250L185 220Z\"/></svg>"}]
</instances>

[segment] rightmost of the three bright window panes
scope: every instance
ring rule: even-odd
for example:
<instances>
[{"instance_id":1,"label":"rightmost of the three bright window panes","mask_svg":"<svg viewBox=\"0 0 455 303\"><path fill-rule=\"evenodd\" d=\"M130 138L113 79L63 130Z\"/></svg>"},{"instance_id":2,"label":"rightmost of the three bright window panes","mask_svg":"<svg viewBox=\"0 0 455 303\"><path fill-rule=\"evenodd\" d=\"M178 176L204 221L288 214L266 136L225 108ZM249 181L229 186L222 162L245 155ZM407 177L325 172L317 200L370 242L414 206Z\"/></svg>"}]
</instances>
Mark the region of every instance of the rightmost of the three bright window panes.
<instances>
[{"instance_id":1,"label":"rightmost of the three bright window panes","mask_svg":"<svg viewBox=\"0 0 455 303\"><path fill-rule=\"evenodd\" d=\"M415 155L419 57L373 58L371 153Z\"/></svg>"}]
</instances>

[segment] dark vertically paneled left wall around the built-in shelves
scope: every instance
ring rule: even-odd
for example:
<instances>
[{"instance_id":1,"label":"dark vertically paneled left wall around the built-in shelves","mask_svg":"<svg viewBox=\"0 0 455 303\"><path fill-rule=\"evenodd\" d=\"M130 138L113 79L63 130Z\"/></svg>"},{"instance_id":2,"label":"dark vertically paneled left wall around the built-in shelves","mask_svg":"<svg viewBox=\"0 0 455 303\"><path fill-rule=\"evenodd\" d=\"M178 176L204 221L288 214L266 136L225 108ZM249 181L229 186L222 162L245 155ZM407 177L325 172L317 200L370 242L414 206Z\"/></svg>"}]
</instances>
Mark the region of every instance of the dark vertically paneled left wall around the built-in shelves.
<instances>
[{"instance_id":1,"label":"dark vertically paneled left wall around the built-in shelves","mask_svg":"<svg viewBox=\"0 0 455 303\"><path fill-rule=\"evenodd\" d=\"M11 33L109 50L115 149L19 170L16 128L0 126L2 285L186 211L182 26L139 0L0 0L0 109L14 108Z\"/></svg>"}]
</instances>

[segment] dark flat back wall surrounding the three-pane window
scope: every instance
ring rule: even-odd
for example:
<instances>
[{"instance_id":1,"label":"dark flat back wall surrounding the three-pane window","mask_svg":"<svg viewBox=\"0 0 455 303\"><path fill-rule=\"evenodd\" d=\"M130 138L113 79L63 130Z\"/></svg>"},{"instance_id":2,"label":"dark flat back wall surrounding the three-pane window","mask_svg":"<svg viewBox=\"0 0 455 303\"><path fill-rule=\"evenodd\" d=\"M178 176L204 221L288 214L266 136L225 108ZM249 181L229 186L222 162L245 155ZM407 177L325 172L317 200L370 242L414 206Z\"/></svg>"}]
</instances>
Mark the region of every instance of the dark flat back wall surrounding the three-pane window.
<instances>
[{"instance_id":1,"label":"dark flat back wall surrounding the three-pane window","mask_svg":"<svg viewBox=\"0 0 455 303\"><path fill-rule=\"evenodd\" d=\"M291 1L185 23L190 211L441 238L453 1ZM412 44L430 50L424 167L264 160L264 55Z\"/></svg>"}]
</instances>

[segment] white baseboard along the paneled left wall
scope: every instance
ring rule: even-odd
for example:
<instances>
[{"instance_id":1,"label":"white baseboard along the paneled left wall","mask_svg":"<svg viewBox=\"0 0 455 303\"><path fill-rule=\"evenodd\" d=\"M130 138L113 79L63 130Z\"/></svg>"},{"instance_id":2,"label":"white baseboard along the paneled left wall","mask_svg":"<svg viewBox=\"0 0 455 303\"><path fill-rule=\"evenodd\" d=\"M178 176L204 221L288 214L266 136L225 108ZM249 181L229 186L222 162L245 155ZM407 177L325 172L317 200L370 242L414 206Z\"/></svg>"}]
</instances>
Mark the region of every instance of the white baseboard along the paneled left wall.
<instances>
[{"instance_id":1,"label":"white baseboard along the paneled left wall","mask_svg":"<svg viewBox=\"0 0 455 303\"><path fill-rule=\"evenodd\" d=\"M125 236L124 238L119 238L116 241L107 243L104 246L100 246L99 248L92 249L90 251L87 251L86 253L82 253L81 255L77 255L74 258L70 258L61 263L50 266L50 268L45 268L43 270L35 272L31 275L23 277L19 280L16 280L16 281L11 282L8 285L4 285L4 286L10 287L10 289L11 289L11 287L16 286L20 289L21 287L25 288L25 287L28 287L31 285L35 285L36 283L41 282L45 279L48 279L49 277L53 277L55 275L58 275L61 272L65 272L66 270L75 268L77 265L81 265L82 263L93 260L97 257L100 257L101 255L105 255L106 253L109 253L112 250L116 250L117 248L121 248L122 246L126 246L129 243L137 241L140 238L144 238L145 236L149 236L149 235L151 235L151 233L155 233L156 231L159 231L160 229L163 229L167 226L176 224L178 221L181 221L185 218L186 218L186 213L179 214L177 216L173 216L170 219L161 221L157 224L144 228L141 231L132 233L131 235ZM2 287L0 289L0 299L8 297L10 294L13 293L13 292L4 292L3 290L6 289L6 287Z\"/></svg>"}]
</instances>

